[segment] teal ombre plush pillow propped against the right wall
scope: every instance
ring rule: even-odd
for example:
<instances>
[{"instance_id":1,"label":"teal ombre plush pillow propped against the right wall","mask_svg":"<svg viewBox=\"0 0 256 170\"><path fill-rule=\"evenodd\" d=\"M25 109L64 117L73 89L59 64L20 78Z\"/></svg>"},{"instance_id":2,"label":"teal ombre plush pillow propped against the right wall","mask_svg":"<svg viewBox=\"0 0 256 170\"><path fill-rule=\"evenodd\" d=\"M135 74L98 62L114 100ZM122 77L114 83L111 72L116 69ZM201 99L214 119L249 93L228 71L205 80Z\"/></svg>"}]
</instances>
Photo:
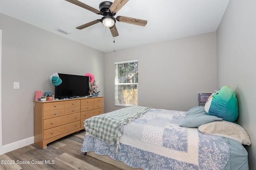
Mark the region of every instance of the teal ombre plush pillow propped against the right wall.
<instances>
[{"instance_id":1,"label":"teal ombre plush pillow propped against the right wall","mask_svg":"<svg viewBox=\"0 0 256 170\"><path fill-rule=\"evenodd\" d=\"M204 110L208 115L221 117L234 122L238 117L238 104L235 92L228 86L216 90L206 102Z\"/></svg>"}]
</instances>

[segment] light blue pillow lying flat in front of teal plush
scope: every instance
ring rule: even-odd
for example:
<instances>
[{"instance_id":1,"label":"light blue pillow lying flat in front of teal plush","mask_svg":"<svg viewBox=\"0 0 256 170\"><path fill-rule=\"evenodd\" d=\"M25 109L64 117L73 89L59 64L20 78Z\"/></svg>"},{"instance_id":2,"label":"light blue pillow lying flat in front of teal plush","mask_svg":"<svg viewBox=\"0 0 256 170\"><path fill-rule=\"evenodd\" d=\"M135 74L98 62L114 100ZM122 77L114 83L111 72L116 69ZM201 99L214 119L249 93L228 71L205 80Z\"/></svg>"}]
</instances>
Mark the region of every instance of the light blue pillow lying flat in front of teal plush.
<instances>
[{"instance_id":1,"label":"light blue pillow lying flat in front of teal plush","mask_svg":"<svg viewBox=\"0 0 256 170\"><path fill-rule=\"evenodd\" d=\"M220 117L208 115L204 106L196 106L186 112L184 121L180 124L182 127L199 127L200 125L213 121L223 120Z\"/></svg>"}]
</instances>

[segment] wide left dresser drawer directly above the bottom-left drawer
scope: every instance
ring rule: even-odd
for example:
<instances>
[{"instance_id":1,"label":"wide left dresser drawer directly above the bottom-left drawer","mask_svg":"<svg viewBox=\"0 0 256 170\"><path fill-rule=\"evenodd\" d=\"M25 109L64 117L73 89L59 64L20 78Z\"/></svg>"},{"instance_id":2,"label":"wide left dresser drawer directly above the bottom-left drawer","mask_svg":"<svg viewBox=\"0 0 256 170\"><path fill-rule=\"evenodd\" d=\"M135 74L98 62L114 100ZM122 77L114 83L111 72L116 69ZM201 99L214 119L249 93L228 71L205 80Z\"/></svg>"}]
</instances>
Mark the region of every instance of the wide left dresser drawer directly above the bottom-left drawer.
<instances>
[{"instance_id":1,"label":"wide left dresser drawer directly above the bottom-left drawer","mask_svg":"<svg viewBox=\"0 0 256 170\"><path fill-rule=\"evenodd\" d=\"M80 117L81 117L80 113L74 113L71 115L65 115L61 117L46 119L44 120L44 130L50 129L52 127L64 125L70 122L78 121L80 120Z\"/></svg>"}]
</instances>

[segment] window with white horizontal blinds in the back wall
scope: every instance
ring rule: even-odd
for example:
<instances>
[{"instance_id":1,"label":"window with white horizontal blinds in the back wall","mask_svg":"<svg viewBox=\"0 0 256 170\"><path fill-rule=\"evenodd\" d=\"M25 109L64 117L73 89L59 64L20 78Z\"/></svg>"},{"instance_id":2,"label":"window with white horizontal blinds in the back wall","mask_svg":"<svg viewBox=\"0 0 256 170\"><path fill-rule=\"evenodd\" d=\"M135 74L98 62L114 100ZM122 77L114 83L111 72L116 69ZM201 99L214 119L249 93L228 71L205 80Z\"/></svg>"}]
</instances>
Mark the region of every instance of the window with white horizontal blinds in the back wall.
<instances>
[{"instance_id":1,"label":"window with white horizontal blinds in the back wall","mask_svg":"<svg viewBox=\"0 0 256 170\"><path fill-rule=\"evenodd\" d=\"M138 105L138 60L115 63L115 106Z\"/></svg>"}]
</instances>

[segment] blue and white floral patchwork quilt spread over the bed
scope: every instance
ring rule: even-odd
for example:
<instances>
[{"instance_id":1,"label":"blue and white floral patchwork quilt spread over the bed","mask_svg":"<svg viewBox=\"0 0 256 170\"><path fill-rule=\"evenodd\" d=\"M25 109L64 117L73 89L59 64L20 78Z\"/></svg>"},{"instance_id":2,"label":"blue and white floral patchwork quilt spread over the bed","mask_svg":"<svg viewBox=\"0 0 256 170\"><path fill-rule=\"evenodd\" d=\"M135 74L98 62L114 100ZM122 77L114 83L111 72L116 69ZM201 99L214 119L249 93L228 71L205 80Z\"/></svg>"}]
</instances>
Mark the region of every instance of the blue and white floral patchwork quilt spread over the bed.
<instances>
[{"instance_id":1,"label":"blue and white floral patchwork quilt spread over the bed","mask_svg":"<svg viewBox=\"0 0 256 170\"><path fill-rule=\"evenodd\" d=\"M128 166L144 170L224 170L230 156L221 138L204 135L198 128L180 127L186 112L150 109L122 125L120 150L86 135L82 152L108 154Z\"/></svg>"}]
</instances>

